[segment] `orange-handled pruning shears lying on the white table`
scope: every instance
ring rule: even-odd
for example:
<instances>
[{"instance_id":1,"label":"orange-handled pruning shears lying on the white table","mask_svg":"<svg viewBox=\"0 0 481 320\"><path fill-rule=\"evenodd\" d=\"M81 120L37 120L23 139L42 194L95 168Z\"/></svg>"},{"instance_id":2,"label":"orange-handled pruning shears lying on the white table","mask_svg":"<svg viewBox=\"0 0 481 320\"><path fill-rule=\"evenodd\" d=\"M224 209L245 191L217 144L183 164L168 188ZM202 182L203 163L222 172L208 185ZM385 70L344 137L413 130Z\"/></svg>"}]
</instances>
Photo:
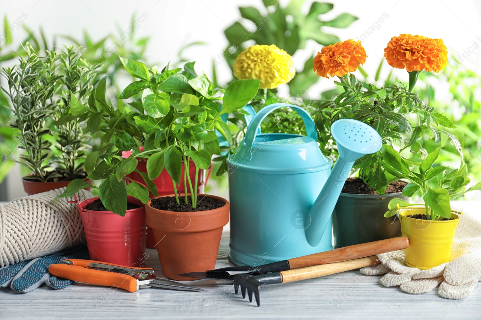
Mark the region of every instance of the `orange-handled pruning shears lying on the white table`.
<instances>
[{"instance_id":1,"label":"orange-handled pruning shears lying on the white table","mask_svg":"<svg viewBox=\"0 0 481 320\"><path fill-rule=\"evenodd\" d=\"M203 291L188 284L159 279L152 268L131 268L114 263L81 259L62 259L60 262L62 263L50 265L49 272L52 275L86 284L106 285L129 292L150 287Z\"/></svg>"}]
</instances>

